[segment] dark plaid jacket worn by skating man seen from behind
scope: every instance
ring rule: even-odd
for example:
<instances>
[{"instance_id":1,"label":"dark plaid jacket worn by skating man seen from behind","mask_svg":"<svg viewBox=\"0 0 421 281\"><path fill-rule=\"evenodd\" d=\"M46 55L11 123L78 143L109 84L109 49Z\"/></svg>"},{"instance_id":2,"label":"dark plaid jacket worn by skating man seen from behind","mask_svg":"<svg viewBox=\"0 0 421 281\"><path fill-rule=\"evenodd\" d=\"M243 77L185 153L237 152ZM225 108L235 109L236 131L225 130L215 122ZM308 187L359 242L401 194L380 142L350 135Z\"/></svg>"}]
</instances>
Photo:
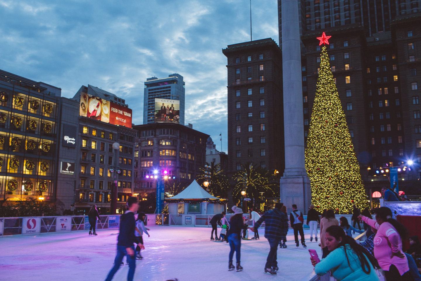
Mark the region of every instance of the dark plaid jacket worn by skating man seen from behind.
<instances>
[{"instance_id":1,"label":"dark plaid jacket worn by skating man seen from behind","mask_svg":"<svg viewBox=\"0 0 421 281\"><path fill-rule=\"evenodd\" d=\"M285 240L288 233L288 217L285 213L278 209L269 210L254 223L254 228L258 228L263 222L265 222L265 238Z\"/></svg>"}]
</instances>

